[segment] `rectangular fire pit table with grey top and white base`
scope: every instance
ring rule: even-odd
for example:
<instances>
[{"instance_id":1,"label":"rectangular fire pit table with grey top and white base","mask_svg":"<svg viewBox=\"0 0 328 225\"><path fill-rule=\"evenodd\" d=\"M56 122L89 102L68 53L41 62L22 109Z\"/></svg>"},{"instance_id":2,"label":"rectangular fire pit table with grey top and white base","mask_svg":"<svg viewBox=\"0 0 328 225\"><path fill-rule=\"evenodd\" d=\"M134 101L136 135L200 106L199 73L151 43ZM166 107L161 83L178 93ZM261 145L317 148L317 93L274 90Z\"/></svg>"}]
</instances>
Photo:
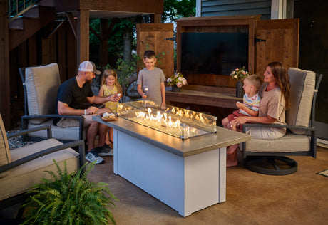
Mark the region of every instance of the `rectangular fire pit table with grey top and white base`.
<instances>
[{"instance_id":1,"label":"rectangular fire pit table with grey top and white base","mask_svg":"<svg viewBox=\"0 0 328 225\"><path fill-rule=\"evenodd\" d=\"M113 127L115 174L172 207L181 216L225 202L226 147L250 135L217 127L216 133L181 140L118 117Z\"/></svg>"}]
</instances>

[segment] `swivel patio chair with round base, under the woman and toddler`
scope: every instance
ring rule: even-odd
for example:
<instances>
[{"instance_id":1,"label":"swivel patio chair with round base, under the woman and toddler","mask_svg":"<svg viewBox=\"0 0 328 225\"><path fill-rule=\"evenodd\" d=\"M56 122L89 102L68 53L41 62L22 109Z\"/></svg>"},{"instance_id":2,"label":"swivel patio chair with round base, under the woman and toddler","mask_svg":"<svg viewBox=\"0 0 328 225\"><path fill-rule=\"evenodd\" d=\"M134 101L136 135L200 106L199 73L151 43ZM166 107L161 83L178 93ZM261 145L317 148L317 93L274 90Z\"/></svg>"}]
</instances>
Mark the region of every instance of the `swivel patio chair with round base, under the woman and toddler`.
<instances>
[{"instance_id":1,"label":"swivel patio chair with round base, under the woman and toddler","mask_svg":"<svg viewBox=\"0 0 328 225\"><path fill-rule=\"evenodd\" d=\"M289 68L291 108L286 111L287 125L245 124L246 127L285 127L286 135L276 140L252 137L242 144L244 165L261 174L286 175L297 171L297 162L286 156L317 156L317 135L313 127L315 101L322 74ZM310 120L310 117L312 118Z\"/></svg>"}]
</instances>

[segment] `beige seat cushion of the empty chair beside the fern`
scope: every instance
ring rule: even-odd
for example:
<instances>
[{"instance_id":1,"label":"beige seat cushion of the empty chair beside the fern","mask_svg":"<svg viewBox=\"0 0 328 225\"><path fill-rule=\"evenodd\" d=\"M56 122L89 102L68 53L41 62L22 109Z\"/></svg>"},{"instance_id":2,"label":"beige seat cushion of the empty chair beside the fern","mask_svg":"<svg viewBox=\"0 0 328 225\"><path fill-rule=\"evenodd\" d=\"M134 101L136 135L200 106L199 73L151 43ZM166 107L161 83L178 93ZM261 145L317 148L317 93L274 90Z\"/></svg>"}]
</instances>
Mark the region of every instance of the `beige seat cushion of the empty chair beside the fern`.
<instances>
[{"instance_id":1,"label":"beige seat cushion of the empty chair beside the fern","mask_svg":"<svg viewBox=\"0 0 328 225\"><path fill-rule=\"evenodd\" d=\"M42 142L36 142L32 145L11 150L11 159L13 161L21 159L34 152L45 150L49 147L61 145L62 143L55 139L48 139ZM53 152L31 162L27 162L19 167L9 170L6 177L0 179L0 201L16 194L26 192L26 188L32 187L34 184L41 182L41 178L51 178L46 170L53 171L57 174L56 165L53 164L53 159L63 169L63 162L66 161L68 172L74 172L79 168L78 152L68 148L58 152Z\"/></svg>"}]
</instances>

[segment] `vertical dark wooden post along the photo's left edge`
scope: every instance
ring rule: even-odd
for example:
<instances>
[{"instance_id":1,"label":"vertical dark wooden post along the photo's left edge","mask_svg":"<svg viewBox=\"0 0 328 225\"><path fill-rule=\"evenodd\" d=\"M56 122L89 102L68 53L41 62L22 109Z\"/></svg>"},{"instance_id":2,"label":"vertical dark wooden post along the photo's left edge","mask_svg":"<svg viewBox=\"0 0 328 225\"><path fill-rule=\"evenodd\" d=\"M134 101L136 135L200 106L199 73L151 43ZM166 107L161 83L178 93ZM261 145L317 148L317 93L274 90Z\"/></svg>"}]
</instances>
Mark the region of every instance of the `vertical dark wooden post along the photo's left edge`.
<instances>
[{"instance_id":1,"label":"vertical dark wooden post along the photo's left edge","mask_svg":"<svg viewBox=\"0 0 328 225\"><path fill-rule=\"evenodd\" d=\"M10 73L8 1L0 0L0 112L6 130L10 130Z\"/></svg>"}]
</instances>

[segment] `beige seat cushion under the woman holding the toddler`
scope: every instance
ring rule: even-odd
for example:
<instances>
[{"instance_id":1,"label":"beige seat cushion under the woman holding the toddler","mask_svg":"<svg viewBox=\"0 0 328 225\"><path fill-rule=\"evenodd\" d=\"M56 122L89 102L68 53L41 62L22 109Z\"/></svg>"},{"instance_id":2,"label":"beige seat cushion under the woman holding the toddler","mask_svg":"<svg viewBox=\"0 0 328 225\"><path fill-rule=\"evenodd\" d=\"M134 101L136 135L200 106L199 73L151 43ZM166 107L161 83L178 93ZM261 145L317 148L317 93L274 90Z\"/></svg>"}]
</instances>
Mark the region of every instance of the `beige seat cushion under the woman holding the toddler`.
<instances>
[{"instance_id":1,"label":"beige seat cushion under the woman holding the toddler","mask_svg":"<svg viewBox=\"0 0 328 225\"><path fill-rule=\"evenodd\" d=\"M247 152L307 152L310 150L310 137L287 132L276 140L264 140L252 137L246 142Z\"/></svg>"}]
</instances>

